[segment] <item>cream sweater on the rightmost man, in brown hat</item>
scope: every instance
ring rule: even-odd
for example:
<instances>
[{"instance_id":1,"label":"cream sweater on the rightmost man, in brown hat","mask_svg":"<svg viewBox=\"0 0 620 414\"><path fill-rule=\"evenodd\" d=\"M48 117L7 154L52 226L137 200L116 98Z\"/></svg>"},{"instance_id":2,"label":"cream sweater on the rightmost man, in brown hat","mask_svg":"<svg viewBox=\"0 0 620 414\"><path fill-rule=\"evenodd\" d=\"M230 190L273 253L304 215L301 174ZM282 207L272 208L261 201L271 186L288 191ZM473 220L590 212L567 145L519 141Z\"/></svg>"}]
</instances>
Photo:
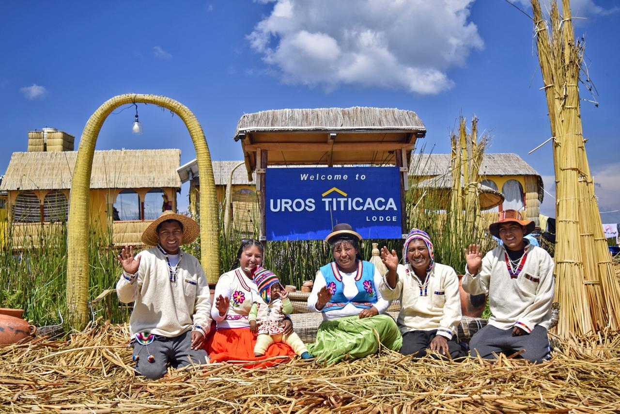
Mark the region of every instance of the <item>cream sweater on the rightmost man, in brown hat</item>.
<instances>
[{"instance_id":1,"label":"cream sweater on the rightmost man, in brown hat","mask_svg":"<svg viewBox=\"0 0 620 414\"><path fill-rule=\"evenodd\" d=\"M519 326L528 333L536 325L549 329L555 290L553 259L544 249L528 244L523 269L512 279L505 252L504 246L489 251L482 258L478 274L471 274L466 268L461 286L472 295L489 295L493 313L489 325L503 330Z\"/></svg>"}]
</instances>

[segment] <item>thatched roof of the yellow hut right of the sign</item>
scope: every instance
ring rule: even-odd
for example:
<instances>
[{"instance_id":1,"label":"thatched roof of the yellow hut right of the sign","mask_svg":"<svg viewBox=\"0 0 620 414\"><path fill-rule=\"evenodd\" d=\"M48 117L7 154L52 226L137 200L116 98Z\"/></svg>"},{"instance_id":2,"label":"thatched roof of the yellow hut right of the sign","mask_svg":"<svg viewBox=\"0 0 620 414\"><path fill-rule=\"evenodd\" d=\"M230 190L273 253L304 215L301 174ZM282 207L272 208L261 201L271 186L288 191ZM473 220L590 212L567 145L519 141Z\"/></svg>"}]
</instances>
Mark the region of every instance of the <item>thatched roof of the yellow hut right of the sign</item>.
<instances>
[{"instance_id":1,"label":"thatched roof of the yellow hut right of the sign","mask_svg":"<svg viewBox=\"0 0 620 414\"><path fill-rule=\"evenodd\" d=\"M450 171L449 154L412 154L410 176L444 176ZM538 199L542 202L544 184L542 177L523 158L513 153L485 153L480 164L480 179L485 176L536 176ZM451 182L451 178L449 178Z\"/></svg>"}]
</instances>

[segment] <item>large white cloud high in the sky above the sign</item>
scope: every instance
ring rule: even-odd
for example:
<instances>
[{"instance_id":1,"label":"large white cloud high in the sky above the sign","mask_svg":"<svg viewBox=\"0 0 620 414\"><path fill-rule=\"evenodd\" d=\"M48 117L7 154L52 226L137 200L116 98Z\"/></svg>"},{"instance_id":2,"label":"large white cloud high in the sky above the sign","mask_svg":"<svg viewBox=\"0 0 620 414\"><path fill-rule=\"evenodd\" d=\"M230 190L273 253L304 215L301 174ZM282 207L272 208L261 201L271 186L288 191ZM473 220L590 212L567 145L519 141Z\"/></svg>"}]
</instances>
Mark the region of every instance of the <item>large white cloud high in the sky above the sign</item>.
<instances>
[{"instance_id":1,"label":"large white cloud high in the sky above the sign","mask_svg":"<svg viewBox=\"0 0 620 414\"><path fill-rule=\"evenodd\" d=\"M437 94L453 86L446 71L484 47L467 21L473 1L275 0L248 39L285 83Z\"/></svg>"}]
</instances>

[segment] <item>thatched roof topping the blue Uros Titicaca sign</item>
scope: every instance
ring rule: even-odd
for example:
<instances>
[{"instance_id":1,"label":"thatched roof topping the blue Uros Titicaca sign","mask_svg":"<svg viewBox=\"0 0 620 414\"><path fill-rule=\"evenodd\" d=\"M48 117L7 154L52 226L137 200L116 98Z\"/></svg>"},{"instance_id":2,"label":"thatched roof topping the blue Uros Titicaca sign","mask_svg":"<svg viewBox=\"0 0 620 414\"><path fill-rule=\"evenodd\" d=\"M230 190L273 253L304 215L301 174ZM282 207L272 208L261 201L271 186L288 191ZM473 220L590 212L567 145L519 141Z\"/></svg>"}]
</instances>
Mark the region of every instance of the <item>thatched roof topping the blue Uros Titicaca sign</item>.
<instances>
[{"instance_id":1,"label":"thatched roof topping the blue Uros Titicaca sign","mask_svg":"<svg viewBox=\"0 0 620 414\"><path fill-rule=\"evenodd\" d=\"M245 114L237 124L235 140L241 132L257 131L371 131L426 132L412 110L394 108L275 109Z\"/></svg>"}]
</instances>

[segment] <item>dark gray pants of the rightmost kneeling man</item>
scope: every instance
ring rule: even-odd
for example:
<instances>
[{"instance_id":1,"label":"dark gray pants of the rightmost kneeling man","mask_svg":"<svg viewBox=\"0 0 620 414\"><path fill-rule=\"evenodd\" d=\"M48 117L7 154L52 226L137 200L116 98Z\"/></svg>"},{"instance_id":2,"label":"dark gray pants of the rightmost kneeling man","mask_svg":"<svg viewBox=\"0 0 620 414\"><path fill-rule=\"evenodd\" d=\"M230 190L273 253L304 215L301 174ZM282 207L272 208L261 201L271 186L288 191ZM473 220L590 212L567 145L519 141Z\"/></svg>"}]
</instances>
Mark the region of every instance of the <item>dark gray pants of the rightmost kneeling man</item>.
<instances>
[{"instance_id":1,"label":"dark gray pants of the rightmost kneeling man","mask_svg":"<svg viewBox=\"0 0 620 414\"><path fill-rule=\"evenodd\" d=\"M512 336L512 329L503 330L487 325L472 336L469 341L469 354L478 354L484 359L495 359L493 353L513 354L525 349L521 357L530 362L542 362L549 359L549 337L547 330L536 325L534 330L521 336Z\"/></svg>"}]
</instances>

